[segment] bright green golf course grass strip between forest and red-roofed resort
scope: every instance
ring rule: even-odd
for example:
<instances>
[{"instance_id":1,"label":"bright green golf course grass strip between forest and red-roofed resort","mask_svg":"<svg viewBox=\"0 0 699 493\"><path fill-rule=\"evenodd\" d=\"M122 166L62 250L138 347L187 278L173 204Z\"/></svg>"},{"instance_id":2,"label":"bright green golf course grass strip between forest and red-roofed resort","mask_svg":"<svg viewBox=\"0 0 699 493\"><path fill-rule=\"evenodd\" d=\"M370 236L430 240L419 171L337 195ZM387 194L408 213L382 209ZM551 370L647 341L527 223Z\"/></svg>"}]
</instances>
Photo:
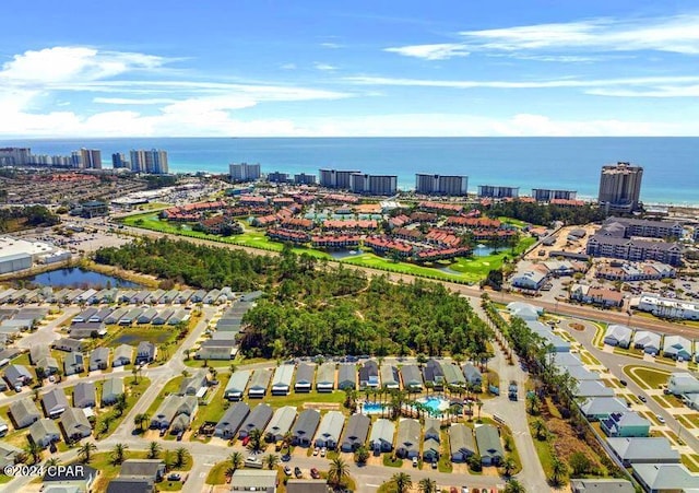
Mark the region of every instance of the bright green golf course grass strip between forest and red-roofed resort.
<instances>
[{"instance_id":1,"label":"bright green golf course grass strip between forest and red-roofed resort","mask_svg":"<svg viewBox=\"0 0 699 493\"><path fill-rule=\"evenodd\" d=\"M167 221L161 221L157 214L154 213L134 214L125 218L122 221L126 225L129 226L143 227L162 233L186 235L190 237L247 246L251 248L260 248L263 250L281 251L283 248L283 244L270 240L265 236L264 230L250 227L242 222L241 224L244 224L245 233L240 235L223 237L218 235L192 231L188 225L170 224ZM510 220L510 222L517 225L519 225L518 223L521 223L517 220ZM453 263L437 263L437 267L416 266L408 262L394 262L390 259L379 257L371 253L365 253L357 256L344 258L340 261L352 263L354 266L363 266L372 269L387 270L411 275L419 275L446 281L476 283L485 279L488 271L493 269L499 269L502 266L506 257L516 257L517 255L531 247L535 242L535 238L524 237L520 240L519 245L517 245L513 250L503 249L498 254L489 255L486 257L458 258ZM313 248L296 247L294 248L294 251L297 254L305 253L317 258L332 259L332 257L328 253L316 250Z\"/></svg>"}]
</instances>

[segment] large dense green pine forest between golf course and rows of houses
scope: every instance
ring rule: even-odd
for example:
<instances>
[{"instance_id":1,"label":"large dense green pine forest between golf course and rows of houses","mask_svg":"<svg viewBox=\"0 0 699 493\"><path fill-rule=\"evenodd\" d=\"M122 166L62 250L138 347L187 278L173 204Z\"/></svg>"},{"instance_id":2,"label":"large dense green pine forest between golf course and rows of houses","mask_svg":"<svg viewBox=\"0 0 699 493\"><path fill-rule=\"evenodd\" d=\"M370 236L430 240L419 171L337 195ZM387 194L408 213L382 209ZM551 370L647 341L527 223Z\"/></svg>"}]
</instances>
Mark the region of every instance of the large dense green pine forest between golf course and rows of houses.
<instances>
[{"instance_id":1,"label":"large dense green pine forest between golf course and rows of houses","mask_svg":"<svg viewBox=\"0 0 699 493\"><path fill-rule=\"evenodd\" d=\"M263 289L245 316L241 349L266 357L316 354L488 352L491 330L469 302L438 283L391 283L386 275L331 265L285 249L279 257L188 242L143 239L103 248L96 261L212 289Z\"/></svg>"}]
</instances>

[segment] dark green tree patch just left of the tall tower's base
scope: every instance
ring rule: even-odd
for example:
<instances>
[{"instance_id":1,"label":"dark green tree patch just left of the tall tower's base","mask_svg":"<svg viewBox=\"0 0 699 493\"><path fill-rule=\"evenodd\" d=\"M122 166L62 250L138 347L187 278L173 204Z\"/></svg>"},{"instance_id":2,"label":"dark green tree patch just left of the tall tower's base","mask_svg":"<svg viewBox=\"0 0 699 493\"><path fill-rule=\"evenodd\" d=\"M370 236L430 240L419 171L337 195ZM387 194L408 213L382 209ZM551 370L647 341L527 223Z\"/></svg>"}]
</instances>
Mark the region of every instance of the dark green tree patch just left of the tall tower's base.
<instances>
[{"instance_id":1,"label":"dark green tree patch just left of the tall tower's base","mask_svg":"<svg viewBox=\"0 0 699 493\"><path fill-rule=\"evenodd\" d=\"M604 210L589 203L582 207L567 208L512 200L510 202L495 203L489 209L485 209L485 212L494 218L514 218L531 224L541 224L544 226L548 226L554 221L562 221L565 224L572 225L588 224L605 219Z\"/></svg>"}]
</instances>

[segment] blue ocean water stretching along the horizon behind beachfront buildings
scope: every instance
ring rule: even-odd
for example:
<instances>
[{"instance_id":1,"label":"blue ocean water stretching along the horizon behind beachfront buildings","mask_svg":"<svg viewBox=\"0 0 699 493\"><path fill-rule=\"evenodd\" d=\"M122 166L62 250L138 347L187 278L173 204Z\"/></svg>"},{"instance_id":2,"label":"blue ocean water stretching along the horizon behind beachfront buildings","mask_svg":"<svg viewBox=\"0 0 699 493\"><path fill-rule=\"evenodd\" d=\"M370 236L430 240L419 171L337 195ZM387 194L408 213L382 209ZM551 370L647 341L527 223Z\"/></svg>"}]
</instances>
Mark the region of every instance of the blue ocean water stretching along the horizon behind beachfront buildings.
<instances>
[{"instance_id":1,"label":"blue ocean water stretching along the horizon behind beachfront buildings","mask_svg":"<svg viewBox=\"0 0 699 493\"><path fill-rule=\"evenodd\" d=\"M399 176L399 188L415 186L415 173L469 176L478 185L577 190L596 197L600 168L627 161L643 166L641 199L648 203L699 204L699 138L138 138L0 141L31 146L35 154L100 149L111 153L164 149L170 172L227 173L228 163L260 163L263 173L313 173L354 168Z\"/></svg>"}]
</instances>

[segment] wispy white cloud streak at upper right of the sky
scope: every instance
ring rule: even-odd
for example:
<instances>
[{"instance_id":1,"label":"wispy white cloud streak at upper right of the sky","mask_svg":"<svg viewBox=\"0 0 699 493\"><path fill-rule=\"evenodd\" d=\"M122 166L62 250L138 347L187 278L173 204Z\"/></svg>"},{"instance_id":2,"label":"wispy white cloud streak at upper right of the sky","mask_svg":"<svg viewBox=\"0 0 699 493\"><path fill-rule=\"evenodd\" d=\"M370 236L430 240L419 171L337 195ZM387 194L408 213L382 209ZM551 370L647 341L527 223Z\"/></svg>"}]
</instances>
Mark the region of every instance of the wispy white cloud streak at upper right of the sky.
<instances>
[{"instance_id":1,"label":"wispy white cloud streak at upper right of the sky","mask_svg":"<svg viewBox=\"0 0 699 493\"><path fill-rule=\"evenodd\" d=\"M699 14L667 17L591 19L495 30L464 31L463 40L387 48L386 51L426 60L469 52L506 52L517 58L579 62L578 54L665 51L699 55ZM532 52L542 54L532 58ZM546 56L548 54L548 56ZM553 57L553 58L552 58Z\"/></svg>"}]
</instances>

